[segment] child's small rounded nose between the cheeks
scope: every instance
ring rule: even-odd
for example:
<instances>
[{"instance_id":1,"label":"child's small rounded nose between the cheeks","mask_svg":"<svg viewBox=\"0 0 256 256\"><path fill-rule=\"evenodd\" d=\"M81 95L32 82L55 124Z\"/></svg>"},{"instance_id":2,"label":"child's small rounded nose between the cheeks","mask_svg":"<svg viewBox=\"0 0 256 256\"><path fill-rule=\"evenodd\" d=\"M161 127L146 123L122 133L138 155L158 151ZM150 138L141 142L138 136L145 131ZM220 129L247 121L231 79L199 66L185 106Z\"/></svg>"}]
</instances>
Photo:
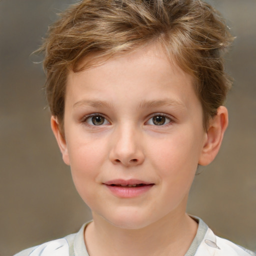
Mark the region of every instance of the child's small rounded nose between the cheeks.
<instances>
[{"instance_id":1,"label":"child's small rounded nose between the cheeks","mask_svg":"<svg viewBox=\"0 0 256 256\"><path fill-rule=\"evenodd\" d=\"M142 137L131 125L120 125L113 131L109 159L113 164L139 165L144 161Z\"/></svg>"}]
</instances>

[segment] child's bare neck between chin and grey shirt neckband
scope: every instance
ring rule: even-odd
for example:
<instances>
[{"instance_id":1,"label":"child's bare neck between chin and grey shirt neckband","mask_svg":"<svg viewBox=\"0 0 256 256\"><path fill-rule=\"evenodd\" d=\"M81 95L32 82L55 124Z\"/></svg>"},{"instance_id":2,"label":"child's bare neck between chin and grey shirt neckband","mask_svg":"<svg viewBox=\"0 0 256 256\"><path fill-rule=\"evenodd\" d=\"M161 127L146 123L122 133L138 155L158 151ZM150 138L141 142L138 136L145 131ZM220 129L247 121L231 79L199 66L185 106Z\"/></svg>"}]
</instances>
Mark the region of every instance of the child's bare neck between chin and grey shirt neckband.
<instances>
[{"instance_id":1,"label":"child's bare neck between chin and grey shirt neckband","mask_svg":"<svg viewBox=\"0 0 256 256\"><path fill-rule=\"evenodd\" d=\"M146 227L124 229L93 216L85 229L85 243L90 256L179 256L189 248L197 223L186 213L168 214Z\"/></svg>"}]
</instances>

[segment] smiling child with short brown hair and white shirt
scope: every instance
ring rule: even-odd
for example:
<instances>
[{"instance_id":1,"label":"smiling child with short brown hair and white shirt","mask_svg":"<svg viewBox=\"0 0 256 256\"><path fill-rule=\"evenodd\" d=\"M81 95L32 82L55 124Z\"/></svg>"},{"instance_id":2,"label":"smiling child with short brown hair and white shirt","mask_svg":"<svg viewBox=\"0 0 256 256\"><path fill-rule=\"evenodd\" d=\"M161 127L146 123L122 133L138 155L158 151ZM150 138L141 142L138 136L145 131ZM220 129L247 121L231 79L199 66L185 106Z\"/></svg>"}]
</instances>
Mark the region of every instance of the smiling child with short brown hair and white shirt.
<instances>
[{"instance_id":1,"label":"smiling child with short brown hair and white shirt","mask_svg":"<svg viewBox=\"0 0 256 256\"><path fill-rule=\"evenodd\" d=\"M200 0L83 0L49 28L51 127L93 220L16 256L255 255L185 213L216 156L230 80L223 20Z\"/></svg>"}]
</instances>

